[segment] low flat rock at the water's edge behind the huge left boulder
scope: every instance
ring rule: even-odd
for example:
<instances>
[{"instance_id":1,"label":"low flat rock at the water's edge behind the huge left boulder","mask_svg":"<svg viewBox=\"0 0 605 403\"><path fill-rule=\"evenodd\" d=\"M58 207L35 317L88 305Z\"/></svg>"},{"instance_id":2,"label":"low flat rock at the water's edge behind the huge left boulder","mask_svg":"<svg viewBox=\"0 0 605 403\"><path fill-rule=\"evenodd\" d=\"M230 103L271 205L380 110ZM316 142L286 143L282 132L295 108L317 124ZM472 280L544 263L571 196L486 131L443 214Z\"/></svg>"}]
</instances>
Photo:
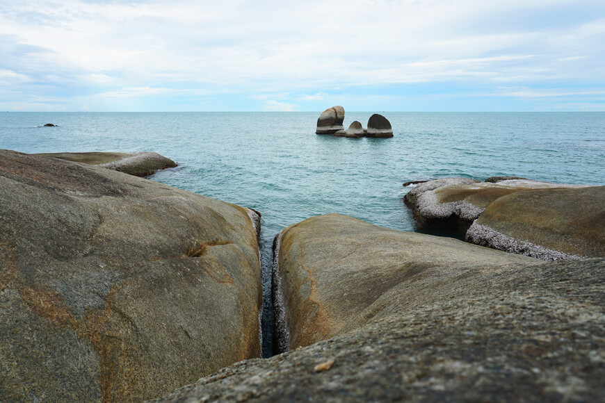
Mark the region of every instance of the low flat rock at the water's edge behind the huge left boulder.
<instances>
[{"instance_id":1,"label":"low flat rock at the water's edge behind the huge left boulder","mask_svg":"<svg viewBox=\"0 0 605 403\"><path fill-rule=\"evenodd\" d=\"M111 152L85 152L85 153L44 153L33 154L59 158L65 161L99 165L114 171L124 172L134 176L148 176L157 170L176 167L175 161L152 151L139 153L111 153Z\"/></svg>"}]
</instances>

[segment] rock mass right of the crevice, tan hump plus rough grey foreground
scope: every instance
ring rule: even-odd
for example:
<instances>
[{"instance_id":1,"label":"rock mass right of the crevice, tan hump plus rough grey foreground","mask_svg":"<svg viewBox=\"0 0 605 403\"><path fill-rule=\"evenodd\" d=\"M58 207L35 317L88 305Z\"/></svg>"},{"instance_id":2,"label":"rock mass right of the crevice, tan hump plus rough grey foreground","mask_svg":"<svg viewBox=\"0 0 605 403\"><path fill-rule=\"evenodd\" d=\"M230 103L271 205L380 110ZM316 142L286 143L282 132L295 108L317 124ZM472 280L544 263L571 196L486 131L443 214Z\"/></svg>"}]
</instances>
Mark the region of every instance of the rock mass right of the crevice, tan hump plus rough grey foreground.
<instances>
[{"instance_id":1,"label":"rock mass right of the crevice, tan hump plus rough grey foreground","mask_svg":"<svg viewBox=\"0 0 605 403\"><path fill-rule=\"evenodd\" d=\"M285 297L303 320L293 326L323 341L237 363L156 402L605 395L602 259L541 262L339 215L282 238L282 275L296 279L284 281L296 287Z\"/></svg>"}]
</instances>

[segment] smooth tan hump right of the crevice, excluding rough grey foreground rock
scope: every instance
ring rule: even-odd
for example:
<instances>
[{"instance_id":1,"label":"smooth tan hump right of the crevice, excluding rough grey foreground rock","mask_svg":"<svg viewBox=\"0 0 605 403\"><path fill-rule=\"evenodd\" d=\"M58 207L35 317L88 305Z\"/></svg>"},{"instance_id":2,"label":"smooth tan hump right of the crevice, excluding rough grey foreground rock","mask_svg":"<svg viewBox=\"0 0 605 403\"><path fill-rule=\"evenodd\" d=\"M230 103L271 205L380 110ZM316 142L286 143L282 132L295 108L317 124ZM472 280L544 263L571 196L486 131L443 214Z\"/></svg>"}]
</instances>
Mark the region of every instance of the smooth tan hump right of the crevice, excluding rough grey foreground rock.
<instances>
[{"instance_id":1,"label":"smooth tan hump right of the crevice, excluding rough grey foreground rock","mask_svg":"<svg viewBox=\"0 0 605 403\"><path fill-rule=\"evenodd\" d=\"M538 262L467 242L380 228L339 214L320 215L281 233L279 268L285 316L280 345L304 347L382 318L408 280L425 272ZM284 323L285 322L285 323ZM286 330L284 332L284 329Z\"/></svg>"}]
</instances>

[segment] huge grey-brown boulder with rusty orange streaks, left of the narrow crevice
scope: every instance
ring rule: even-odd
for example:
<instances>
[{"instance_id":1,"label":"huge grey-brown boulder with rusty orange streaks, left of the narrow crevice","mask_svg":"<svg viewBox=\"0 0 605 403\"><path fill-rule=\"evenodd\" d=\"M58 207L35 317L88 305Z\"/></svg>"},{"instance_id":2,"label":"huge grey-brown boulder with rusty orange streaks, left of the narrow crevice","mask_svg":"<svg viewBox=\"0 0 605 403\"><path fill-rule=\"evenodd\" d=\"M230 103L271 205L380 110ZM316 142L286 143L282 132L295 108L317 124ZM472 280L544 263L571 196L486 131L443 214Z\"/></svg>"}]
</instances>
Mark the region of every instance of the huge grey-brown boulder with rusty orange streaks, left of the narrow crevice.
<instances>
[{"instance_id":1,"label":"huge grey-brown boulder with rusty orange streaks, left of the narrow crevice","mask_svg":"<svg viewBox=\"0 0 605 403\"><path fill-rule=\"evenodd\" d=\"M140 401L259 356L251 216L1 150L0 401Z\"/></svg>"}]
</instances>

